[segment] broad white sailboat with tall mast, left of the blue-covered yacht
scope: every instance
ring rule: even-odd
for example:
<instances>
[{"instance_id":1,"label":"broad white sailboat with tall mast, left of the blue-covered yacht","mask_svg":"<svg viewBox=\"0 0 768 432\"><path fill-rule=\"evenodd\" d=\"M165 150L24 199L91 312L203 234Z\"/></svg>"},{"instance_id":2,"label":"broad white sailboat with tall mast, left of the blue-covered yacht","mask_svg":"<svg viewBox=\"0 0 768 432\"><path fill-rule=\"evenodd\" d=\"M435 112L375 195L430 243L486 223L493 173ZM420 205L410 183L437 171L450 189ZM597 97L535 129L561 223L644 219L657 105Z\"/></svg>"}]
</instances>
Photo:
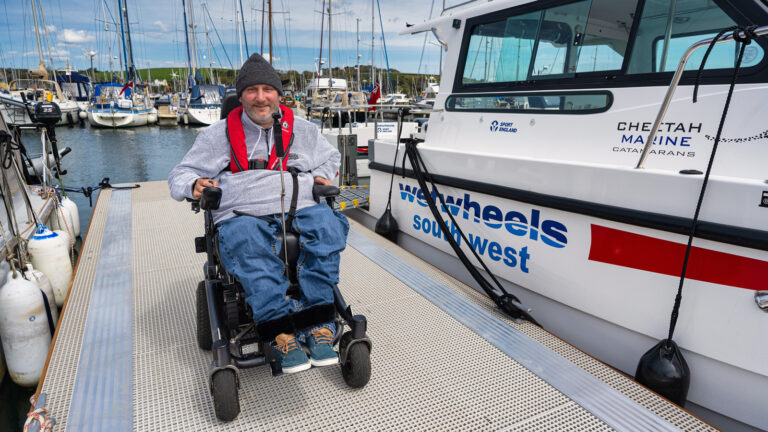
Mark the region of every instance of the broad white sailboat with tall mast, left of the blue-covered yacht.
<instances>
[{"instance_id":1,"label":"broad white sailboat with tall mast, left of the blue-covered yacht","mask_svg":"<svg viewBox=\"0 0 768 432\"><path fill-rule=\"evenodd\" d=\"M140 83L133 63L128 9L124 0L117 0L120 9L120 38L123 45L125 85L99 84L94 88L88 107L88 122L93 127L123 128L145 126L157 122L157 109L146 85ZM136 83L136 84L135 84Z\"/></svg>"}]
</instances>

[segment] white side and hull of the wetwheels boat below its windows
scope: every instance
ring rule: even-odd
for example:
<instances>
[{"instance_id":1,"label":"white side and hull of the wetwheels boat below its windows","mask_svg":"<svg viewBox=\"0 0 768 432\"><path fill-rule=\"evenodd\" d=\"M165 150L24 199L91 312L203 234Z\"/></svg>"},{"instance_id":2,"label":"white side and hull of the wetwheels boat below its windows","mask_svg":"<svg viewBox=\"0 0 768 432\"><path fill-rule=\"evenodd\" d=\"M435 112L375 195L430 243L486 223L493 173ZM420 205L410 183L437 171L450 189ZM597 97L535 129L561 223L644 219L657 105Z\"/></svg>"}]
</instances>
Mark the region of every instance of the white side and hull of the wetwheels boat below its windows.
<instances>
[{"instance_id":1,"label":"white side and hull of the wetwheels boat below its windows","mask_svg":"<svg viewBox=\"0 0 768 432\"><path fill-rule=\"evenodd\" d=\"M652 119L657 105L643 99L660 99L661 92L626 91L637 92L623 99L637 108L619 106L612 118L484 113L467 121L467 114L432 114L427 141L418 148L430 172L440 176L438 189L448 205L440 215L465 252L467 241L458 237L448 211L491 271L514 287L544 328L634 375L642 353L668 333L701 172L711 151L708 137L717 119L673 104L664 127L686 129L675 135L690 136L690 146L654 147L651 167L634 169L637 152L628 155L623 149L638 145L627 135L647 136L647 131L642 131L644 122L626 119ZM702 99L715 99L707 101L713 104L722 95L715 88ZM768 248L760 240L768 232L760 205L765 185L755 163L764 160L765 150L756 142L734 141L760 133L760 123L749 114L759 110L751 102L729 117L731 128L724 132L728 142L739 145L724 144L730 151L718 153L674 340L691 369L689 401L768 429L761 408L768 398L768 345L759 342L768 334L768 316L755 304L755 293L768 288ZM506 124L514 126L500 130ZM623 130L635 126L639 134ZM575 130L589 132L570 133ZM374 217L387 203L394 153L394 144L376 142ZM394 164L397 174L400 157ZM405 167L410 170L410 164ZM685 174L686 169L699 171ZM436 254L415 250L414 245L426 245L455 256L427 207L425 195L431 191L397 174L392 212L404 245L440 268L456 268L455 258L438 263Z\"/></svg>"}]
</instances>

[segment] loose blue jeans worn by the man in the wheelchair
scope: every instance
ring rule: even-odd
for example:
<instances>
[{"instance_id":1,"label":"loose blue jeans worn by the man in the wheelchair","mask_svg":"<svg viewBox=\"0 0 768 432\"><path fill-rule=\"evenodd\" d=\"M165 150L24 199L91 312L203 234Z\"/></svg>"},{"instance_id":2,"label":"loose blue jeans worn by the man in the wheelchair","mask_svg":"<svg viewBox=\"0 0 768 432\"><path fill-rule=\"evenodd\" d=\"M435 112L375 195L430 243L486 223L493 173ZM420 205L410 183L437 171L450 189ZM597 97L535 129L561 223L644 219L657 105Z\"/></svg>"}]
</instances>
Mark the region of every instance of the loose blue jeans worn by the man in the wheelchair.
<instances>
[{"instance_id":1,"label":"loose blue jeans worn by the man in the wheelchair","mask_svg":"<svg viewBox=\"0 0 768 432\"><path fill-rule=\"evenodd\" d=\"M283 273L282 243L275 238L282 232L280 215L264 219L237 216L220 222L217 228L222 264L242 284L254 321L269 322L296 312L295 302L285 297L290 282ZM299 233L299 302L303 308L332 307L333 287L339 282L339 254L346 247L349 222L341 213L318 204L297 211L293 229ZM302 324L306 327L307 323Z\"/></svg>"}]
</instances>

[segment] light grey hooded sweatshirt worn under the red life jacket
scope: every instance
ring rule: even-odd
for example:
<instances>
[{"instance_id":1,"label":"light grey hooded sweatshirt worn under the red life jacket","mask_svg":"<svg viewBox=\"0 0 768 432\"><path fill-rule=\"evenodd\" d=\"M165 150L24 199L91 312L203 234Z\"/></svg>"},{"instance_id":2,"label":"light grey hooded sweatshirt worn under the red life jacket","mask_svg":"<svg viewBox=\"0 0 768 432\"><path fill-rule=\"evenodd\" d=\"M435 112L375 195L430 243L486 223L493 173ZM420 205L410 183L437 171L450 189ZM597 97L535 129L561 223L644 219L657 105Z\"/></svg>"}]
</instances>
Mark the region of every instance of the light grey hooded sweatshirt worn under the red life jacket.
<instances>
[{"instance_id":1,"label":"light grey hooded sweatshirt worn under the red life jacket","mask_svg":"<svg viewBox=\"0 0 768 432\"><path fill-rule=\"evenodd\" d=\"M264 130L245 111L241 117L245 131L248 159L269 160L272 150L272 128ZM198 134L195 144L168 176L171 197L177 201L192 198L192 186L198 178L212 178L222 190L221 205L213 212L215 223L232 218L239 210L255 216L280 213L280 173L272 170L247 170L233 174L229 167L231 147L226 135L226 119L219 120ZM315 205L312 199L314 177L335 178L341 162L339 151L328 143L314 124L294 117L293 144L288 166L299 173L297 209ZM285 211L288 212L293 194L293 178L285 178Z\"/></svg>"}]
</instances>

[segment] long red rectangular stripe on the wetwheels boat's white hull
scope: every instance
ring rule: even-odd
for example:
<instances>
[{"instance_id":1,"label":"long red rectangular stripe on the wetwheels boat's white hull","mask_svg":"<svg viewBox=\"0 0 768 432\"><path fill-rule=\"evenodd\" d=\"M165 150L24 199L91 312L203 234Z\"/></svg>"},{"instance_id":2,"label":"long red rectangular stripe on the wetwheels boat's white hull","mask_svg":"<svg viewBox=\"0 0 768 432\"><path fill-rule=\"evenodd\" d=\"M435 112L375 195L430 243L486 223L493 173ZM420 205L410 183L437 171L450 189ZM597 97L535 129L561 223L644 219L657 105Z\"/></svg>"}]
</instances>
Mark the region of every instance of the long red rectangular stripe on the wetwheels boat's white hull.
<instances>
[{"instance_id":1,"label":"long red rectangular stripe on the wetwheels boat's white hull","mask_svg":"<svg viewBox=\"0 0 768 432\"><path fill-rule=\"evenodd\" d=\"M685 244L592 225L590 261L680 277ZM685 277L760 290L768 288L768 261L691 247Z\"/></svg>"}]
</instances>

